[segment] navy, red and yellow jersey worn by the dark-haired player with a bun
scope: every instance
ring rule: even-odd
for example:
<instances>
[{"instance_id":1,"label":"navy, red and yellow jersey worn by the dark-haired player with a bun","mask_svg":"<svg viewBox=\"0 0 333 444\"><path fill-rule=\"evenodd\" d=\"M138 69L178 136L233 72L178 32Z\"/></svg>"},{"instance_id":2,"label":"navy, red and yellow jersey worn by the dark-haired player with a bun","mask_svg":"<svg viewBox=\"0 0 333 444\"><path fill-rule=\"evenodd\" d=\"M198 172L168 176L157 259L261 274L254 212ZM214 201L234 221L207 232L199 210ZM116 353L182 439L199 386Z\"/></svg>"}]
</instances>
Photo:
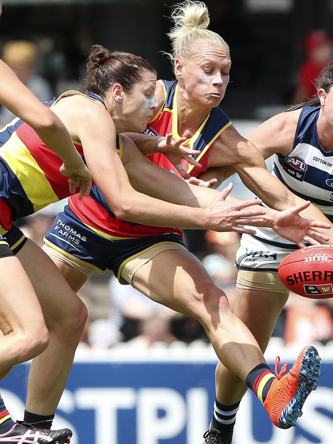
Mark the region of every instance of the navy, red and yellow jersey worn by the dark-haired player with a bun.
<instances>
[{"instance_id":1,"label":"navy, red and yellow jersey worn by the dark-haired player with a bun","mask_svg":"<svg viewBox=\"0 0 333 444\"><path fill-rule=\"evenodd\" d=\"M81 93L67 91L45 105L52 108L61 98L74 94ZM103 103L95 94L87 96ZM83 157L81 143L73 143ZM12 220L69 196L68 178L59 172L62 163L19 118L0 130L0 225L4 229L11 227Z\"/></svg>"}]
</instances>

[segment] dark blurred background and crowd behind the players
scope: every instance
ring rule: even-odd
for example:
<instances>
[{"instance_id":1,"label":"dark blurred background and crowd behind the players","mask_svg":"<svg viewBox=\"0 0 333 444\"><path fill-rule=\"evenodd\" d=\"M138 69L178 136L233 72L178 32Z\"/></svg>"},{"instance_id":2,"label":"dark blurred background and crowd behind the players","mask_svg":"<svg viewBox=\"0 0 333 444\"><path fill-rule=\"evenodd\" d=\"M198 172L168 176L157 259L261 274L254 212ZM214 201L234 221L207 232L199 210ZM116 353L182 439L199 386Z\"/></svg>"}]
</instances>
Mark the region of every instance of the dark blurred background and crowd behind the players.
<instances>
[{"instance_id":1,"label":"dark blurred background and crowd behind the players","mask_svg":"<svg viewBox=\"0 0 333 444\"><path fill-rule=\"evenodd\" d=\"M19 2L17 6L4 1L1 58L41 101L80 88L86 54L93 43L140 54L153 63L159 77L172 79L169 62L158 50L170 49L165 37L170 22L165 16L175 2L139 3L72 5L69 1L67 5L46 7L22 6ZM329 32L332 2L317 2L316 14L312 15L308 13L315 10L316 2L311 0L205 3L211 14L211 29L220 33L231 47L231 83L222 108L232 119L256 119L260 123L289 104L302 102L316 93L314 81L333 58ZM271 9L265 9L265 4L271 5ZM306 12L303 22L297 15L299 11ZM121 18L117 21L116 17ZM134 39L133 35L139 33L141 38ZM0 126L12 118L8 110L0 109ZM246 199L246 190L238 197ZM41 245L58 209L51 206L18 224ZM233 304L239 236L234 232L185 230L184 237L186 246ZM112 348L126 343L128 347L149 348L160 343L171 346L178 341L208 343L197 321L154 303L129 285L120 285L111 272L94 273L80 297L89 308L82 347ZM274 336L284 344L333 341L333 301L306 300L291 294Z\"/></svg>"}]
</instances>

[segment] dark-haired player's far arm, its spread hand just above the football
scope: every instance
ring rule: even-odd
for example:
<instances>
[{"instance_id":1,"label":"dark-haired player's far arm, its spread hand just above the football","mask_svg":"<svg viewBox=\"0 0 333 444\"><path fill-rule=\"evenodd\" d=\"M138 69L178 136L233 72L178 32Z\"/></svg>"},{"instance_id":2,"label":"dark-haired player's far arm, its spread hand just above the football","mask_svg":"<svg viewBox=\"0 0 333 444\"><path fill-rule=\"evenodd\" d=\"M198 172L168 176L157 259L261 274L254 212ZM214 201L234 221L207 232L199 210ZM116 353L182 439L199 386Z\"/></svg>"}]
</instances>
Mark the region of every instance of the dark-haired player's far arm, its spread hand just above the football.
<instances>
[{"instance_id":1,"label":"dark-haired player's far arm, its spread hand just above the football","mask_svg":"<svg viewBox=\"0 0 333 444\"><path fill-rule=\"evenodd\" d=\"M149 194L158 199L177 203L180 205L200 206L206 208L219 199L220 193L214 189L205 188L186 183L169 171L163 170L150 160L144 158L136 146L131 141L124 140L122 162L129 175L131 184L140 192ZM140 167L138 167L140 165ZM284 212L277 212L270 208L263 208L259 205L261 201L241 201L240 199L227 196L232 190L232 185L226 187L222 194L227 197L228 204L225 206L225 219L230 217L234 210L242 209L242 219L253 226L266 226L275 229L281 236L303 246L301 239L308 239L310 243L313 239L324 239L318 231L310 229L310 226L317 226L312 220L301 218L298 213L308 206L308 202L295 208L290 208ZM248 203L258 203L251 209L245 208ZM258 213L254 213L258 212ZM260 215L259 219L256 217ZM321 225L319 225L321 226ZM235 230L236 231L236 230ZM239 229L237 230L241 232Z\"/></svg>"}]
</instances>

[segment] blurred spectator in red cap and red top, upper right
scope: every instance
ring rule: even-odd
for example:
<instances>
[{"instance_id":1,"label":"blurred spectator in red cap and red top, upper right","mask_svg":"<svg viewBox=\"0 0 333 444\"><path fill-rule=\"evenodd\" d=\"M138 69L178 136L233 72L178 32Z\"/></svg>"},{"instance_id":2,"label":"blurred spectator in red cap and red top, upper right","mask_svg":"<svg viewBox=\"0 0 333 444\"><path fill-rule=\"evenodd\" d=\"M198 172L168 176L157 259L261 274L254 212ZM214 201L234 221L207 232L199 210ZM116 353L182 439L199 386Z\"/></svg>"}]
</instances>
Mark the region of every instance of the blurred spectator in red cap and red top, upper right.
<instances>
[{"instance_id":1,"label":"blurred spectator in red cap and red top, upper right","mask_svg":"<svg viewBox=\"0 0 333 444\"><path fill-rule=\"evenodd\" d=\"M300 67L293 103L301 103L317 94L315 80L333 58L333 37L326 31L314 31L305 39L307 58Z\"/></svg>"}]
</instances>

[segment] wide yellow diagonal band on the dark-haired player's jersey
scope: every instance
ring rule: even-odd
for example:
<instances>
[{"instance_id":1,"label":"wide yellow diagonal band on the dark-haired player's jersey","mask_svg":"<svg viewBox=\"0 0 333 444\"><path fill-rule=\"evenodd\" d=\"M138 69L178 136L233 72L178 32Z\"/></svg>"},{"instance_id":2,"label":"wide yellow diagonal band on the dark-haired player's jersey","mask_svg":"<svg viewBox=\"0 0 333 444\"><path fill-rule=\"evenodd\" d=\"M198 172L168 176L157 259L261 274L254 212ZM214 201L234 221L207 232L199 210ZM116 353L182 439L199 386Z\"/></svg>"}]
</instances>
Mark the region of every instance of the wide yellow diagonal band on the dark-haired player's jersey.
<instances>
[{"instance_id":1,"label":"wide yellow diagonal band on the dark-haired player's jersey","mask_svg":"<svg viewBox=\"0 0 333 444\"><path fill-rule=\"evenodd\" d=\"M33 203L35 212L52 202L59 201L44 171L41 170L16 132L2 145L0 156L17 177L28 199ZM31 170L34 172L33 180L30 178Z\"/></svg>"}]
</instances>

